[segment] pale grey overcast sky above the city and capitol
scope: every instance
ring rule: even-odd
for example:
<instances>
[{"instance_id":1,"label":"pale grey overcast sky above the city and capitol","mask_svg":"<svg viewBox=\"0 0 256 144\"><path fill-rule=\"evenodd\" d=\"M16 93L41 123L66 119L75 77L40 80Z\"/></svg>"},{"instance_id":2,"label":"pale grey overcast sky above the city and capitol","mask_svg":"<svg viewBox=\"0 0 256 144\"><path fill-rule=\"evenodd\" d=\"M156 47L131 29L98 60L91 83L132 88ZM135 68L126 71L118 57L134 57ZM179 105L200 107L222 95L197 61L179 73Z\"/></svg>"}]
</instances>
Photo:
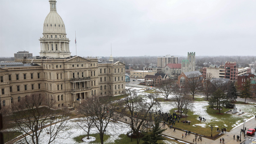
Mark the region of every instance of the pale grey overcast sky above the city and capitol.
<instances>
[{"instance_id":1,"label":"pale grey overcast sky above the city and capitol","mask_svg":"<svg viewBox=\"0 0 256 144\"><path fill-rule=\"evenodd\" d=\"M256 0L57 0L78 56L256 56ZM0 57L39 56L48 0L0 0Z\"/></svg>"}]
</instances>

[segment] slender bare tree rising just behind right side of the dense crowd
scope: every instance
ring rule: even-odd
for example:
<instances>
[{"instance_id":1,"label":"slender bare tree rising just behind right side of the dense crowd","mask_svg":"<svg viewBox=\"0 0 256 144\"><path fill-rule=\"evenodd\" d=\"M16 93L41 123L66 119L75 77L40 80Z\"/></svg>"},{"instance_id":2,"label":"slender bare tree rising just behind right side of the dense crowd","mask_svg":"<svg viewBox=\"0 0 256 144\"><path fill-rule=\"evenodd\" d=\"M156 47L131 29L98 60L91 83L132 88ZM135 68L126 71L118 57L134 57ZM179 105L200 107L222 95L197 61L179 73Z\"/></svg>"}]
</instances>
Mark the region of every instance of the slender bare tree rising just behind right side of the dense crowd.
<instances>
[{"instance_id":1,"label":"slender bare tree rising just behind right side of the dense crowd","mask_svg":"<svg viewBox=\"0 0 256 144\"><path fill-rule=\"evenodd\" d=\"M180 112L180 117L182 116L182 113L184 111L184 96L187 94L186 88L181 88L180 85L176 84L173 88L173 97L172 100L174 101L174 104L177 106L178 111Z\"/></svg>"}]
</instances>

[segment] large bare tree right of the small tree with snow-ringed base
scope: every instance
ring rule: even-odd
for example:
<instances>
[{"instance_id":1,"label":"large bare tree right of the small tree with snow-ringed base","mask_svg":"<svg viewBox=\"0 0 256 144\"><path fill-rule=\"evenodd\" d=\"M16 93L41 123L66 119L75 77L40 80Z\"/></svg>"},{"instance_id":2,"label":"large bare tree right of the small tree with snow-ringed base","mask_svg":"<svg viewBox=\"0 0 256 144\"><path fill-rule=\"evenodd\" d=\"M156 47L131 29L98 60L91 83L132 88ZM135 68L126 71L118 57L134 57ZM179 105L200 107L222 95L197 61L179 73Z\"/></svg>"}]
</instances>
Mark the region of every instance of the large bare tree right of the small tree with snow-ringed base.
<instances>
[{"instance_id":1,"label":"large bare tree right of the small tree with snow-ringed base","mask_svg":"<svg viewBox=\"0 0 256 144\"><path fill-rule=\"evenodd\" d=\"M108 124L115 115L118 115L114 112L118 106L119 103L112 103L110 96L90 97L79 106L79 109L81 109L79 112L90 117L94 126L97 128L101 144L103 144L103 137Z\"/></svg>"}]
</instances>

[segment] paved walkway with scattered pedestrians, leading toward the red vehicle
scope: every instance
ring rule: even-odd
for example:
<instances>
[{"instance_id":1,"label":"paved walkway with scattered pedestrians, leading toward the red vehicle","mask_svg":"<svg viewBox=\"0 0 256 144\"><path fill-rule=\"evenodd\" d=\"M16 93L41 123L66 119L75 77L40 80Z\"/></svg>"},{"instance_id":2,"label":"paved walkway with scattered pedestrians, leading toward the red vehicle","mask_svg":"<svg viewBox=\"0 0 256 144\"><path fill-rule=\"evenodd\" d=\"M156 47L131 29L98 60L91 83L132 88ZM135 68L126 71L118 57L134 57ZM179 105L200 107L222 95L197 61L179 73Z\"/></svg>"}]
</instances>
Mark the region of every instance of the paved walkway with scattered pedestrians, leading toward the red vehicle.
<instances>
[{"instance_id":1,"label":"paved walkway with scattered pedestrians, leading toward the red vehicle","mask_svg":"<svg viewBox=\"0 0 256 144\"><path fill-rule=\"evenodd\" d=\"M160 126L162 126L160 124ZM190 144L195 144L195 142L193 143L193 139L195 139L195 135L191 133L191 135L187 135L187 137L185 137L185 131L181 131L181 130L175 130L176 132L173 132L173 128L169 129L168 127L169 125L166 124L165 128L168 128L166 131L164 131L162 134L168 136L168 137L172 137L174 139L178 139L178 140L182 140L184 142L190 143ZM246 128L255 128L256 126L256 119L253 118L247 122L245 122L245 127ZM238 126L237 128L235 128L234 130L231 130L227 133L224 132L224 135L222 135L222 137L219 137L216 140L211 140L211 139L207 139L205 137L202 137L202 141L199 140L197 141L197 144L220 144L220 138L224 138L225 140L225 144L240 144L242 143L244 140L247 139L247 136L245 135L245 137L243 137L243 133L241 134L241 142L239 140L236 140L236 135L240 136L240 130L243 129L243 124L241 126ZM211 129L209 128L209 131ZM192 132L192 131L191 131ZM184 135L183 139L182 139L182 133ZM233 136L235 135L235 139L233 139Z\"/></svg>"}]
</instances>

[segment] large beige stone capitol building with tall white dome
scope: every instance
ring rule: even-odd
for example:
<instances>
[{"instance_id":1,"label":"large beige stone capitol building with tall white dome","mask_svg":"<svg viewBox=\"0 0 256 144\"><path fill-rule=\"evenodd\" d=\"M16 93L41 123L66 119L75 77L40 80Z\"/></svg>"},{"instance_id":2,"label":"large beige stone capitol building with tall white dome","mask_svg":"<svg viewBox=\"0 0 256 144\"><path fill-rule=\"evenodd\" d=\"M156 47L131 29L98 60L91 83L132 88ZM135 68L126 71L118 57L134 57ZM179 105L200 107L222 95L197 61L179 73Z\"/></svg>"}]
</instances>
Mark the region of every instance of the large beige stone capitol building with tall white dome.
<instances>
[{"instance_id":1,"label":"large beige stone capitol building with tall white dome","mask_svg":"<svg viewBox=\"0 0 256 144\"><path fill-rule=\"evenodd\" d=\"M120 95L125 90L125 64L97 58L71 56L65 24L49 0L50 13L43 23L40 56L0 63L1 106L11 107L26 95L39 93L56 106L76 107L79 101L98 95Z\"/></svg>"}]
</instances>

